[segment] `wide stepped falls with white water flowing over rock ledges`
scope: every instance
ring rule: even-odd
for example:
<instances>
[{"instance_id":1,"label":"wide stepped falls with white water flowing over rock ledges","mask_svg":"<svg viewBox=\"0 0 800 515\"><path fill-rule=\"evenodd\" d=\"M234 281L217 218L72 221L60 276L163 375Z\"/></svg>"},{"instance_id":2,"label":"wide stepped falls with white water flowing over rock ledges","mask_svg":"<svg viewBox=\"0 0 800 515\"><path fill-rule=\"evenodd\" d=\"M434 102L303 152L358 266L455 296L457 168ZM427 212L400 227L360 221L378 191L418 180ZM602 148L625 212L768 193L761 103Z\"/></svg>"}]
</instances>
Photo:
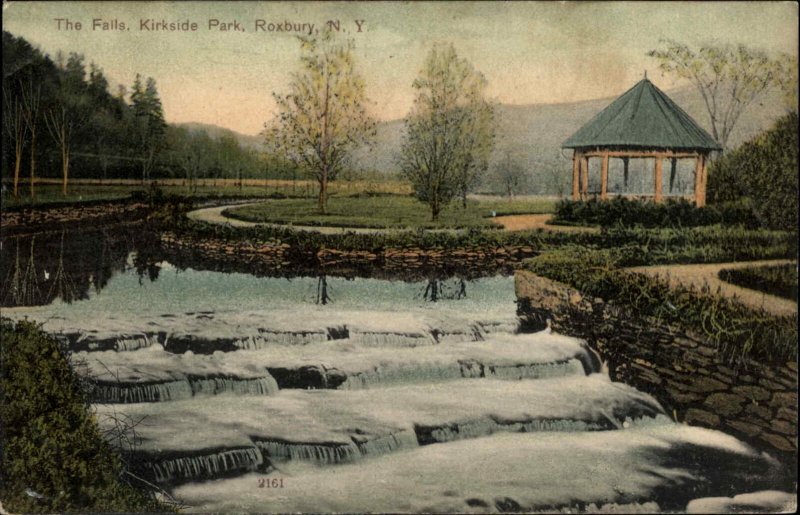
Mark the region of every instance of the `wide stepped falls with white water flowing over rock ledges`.
<instances>
[{"instance_id":1,"label":"wide stepped falls with white water flowing over rock ledges","mask_svg":"<svg viewBox=\"0 0 800 515\"><path fill-rule=\"evenodd\" d=\"M174 301L157 290L121 311L128 275L107 297L11 316L44 320L102 428L136 421L113 443L191 511L683 511L768 489L776 470L612 382L584 342L520 332L507 277L476 281L472 303L366 281L363 300L319 306L273 279L188 271L159 279ZM197 283L227 308L189 309ZM394 306L393 289L414 296Z\"/></svg>"}]
</instances>

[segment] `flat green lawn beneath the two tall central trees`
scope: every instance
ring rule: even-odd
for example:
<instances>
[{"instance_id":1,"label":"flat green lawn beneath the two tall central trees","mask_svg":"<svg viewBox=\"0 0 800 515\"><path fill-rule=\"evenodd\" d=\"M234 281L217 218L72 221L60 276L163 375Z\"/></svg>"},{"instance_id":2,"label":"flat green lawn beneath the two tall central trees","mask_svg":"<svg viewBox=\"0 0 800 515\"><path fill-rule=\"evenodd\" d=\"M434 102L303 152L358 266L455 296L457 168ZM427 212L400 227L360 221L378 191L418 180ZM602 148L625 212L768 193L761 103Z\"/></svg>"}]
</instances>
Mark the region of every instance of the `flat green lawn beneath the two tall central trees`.
<instances>
[{"instance_id":1,"label":"flat green lawn beneath the two tall central trees","mask_svg":"<svg viewBox=\"0 0 800 515\"><path fill-rule=\"evenodd\" d=\"M264 204L231 208L225 214L250 222L295 225L376 228L462 228L495 227L492 211L499 214L552 212L551 200L469 200L467 208L453 202L431 221L428 206L411 196L333 196L328 199L328 214L321 215L316 201L308 199L271 200Z\"/></svg>"}]
</instances>

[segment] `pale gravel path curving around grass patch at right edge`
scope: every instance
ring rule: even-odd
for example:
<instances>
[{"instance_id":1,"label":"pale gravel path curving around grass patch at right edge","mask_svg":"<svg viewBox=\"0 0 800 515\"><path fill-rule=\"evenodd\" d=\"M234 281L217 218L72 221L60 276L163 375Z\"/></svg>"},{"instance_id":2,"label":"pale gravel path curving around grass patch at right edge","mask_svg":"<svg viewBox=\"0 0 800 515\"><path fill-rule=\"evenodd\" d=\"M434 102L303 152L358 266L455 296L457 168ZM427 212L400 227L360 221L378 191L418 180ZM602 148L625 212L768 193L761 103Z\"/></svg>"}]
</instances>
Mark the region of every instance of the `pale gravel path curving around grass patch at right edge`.
<instances>
[{"instance_id":1,"label":"pale gravel path curving around grass patch at right edge","mask_svg":"<svg viewBox=\"0 0 800 515\"><path fill-rule=\"evenodd\" d=\"M759 265L797 264L797 261L777 259L767 261L744 261L737 263L712 263L703 265L669 265L669 266L641 266L629 268L633 272L641 272L653 277L666 278L670 284L682 284L701 288L707 284L712 292L736 298L743 304L754 308L764 308L775 315L796 315L797 303L793 300L768 295L760 291L742 288L726 283L719 278L719 271L723 268L745 268Z\"/></svg>"}]
</instances>

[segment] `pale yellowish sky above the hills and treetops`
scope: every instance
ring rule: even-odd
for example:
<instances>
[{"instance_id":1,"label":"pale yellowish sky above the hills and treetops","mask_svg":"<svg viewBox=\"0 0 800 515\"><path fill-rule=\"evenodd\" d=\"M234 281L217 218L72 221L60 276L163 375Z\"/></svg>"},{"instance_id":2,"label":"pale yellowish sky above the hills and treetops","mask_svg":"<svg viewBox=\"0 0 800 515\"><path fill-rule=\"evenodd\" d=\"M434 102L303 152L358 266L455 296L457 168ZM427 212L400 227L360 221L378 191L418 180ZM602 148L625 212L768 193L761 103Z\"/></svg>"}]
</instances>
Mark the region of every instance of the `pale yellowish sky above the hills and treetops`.
<instances>
[{"instance_id":1,"label":"pale yellowish sky above the hills and treetops","mask_svg":"<svg viewBox=\"0 0 800 515\"><path fill-rule=\"evenodd\" d=\"M80 22L59 29L57 18ZM93 30L93 19L126 30ZM142 20L197 23L195 32L142 30ZM238 21L243 31L209 29ZM257 20L263 20L257 31ZM662 38L690 45L743 43L797 54L794 2L4 2L3 30L54 57L95 61L109 82L156 79L170 122L201 122L257 134L296 68L296 33L276 25L339 20L378 119L402 118L411 83L435 42L452 42L507 104L560 103L619 95L648 77L674 83L646 52ZM357 31L356 20L363 20ZM270 25L272 24L272 25Z\"/></svg>"}]
</instances>

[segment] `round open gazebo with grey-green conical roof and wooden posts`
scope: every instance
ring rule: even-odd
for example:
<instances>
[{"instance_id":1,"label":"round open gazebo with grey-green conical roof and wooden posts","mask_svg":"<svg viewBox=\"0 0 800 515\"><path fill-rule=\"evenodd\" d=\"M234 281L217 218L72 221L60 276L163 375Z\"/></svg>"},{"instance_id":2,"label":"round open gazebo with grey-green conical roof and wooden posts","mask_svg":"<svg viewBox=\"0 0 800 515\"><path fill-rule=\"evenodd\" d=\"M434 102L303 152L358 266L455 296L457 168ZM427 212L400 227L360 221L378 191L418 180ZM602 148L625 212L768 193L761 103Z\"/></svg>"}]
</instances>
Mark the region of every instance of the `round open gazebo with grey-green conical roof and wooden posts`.
<instances>
[{"instance_id":1,"label":"round open gazebo with grey-green conical roof and wooden posts","mask_svg":"<svg viewBox=\"0 0 800 515\"><path fill-rule=\"evenodd\" d=\"M644 80L622 94L569 137L562 148L572 156L572 199L589 197L589 159L600 158L600 199L608 198L608 162L622 159L625 187L631 158L654 159L652 199L664 198L663 161L669 159L674 179L678 159L693 159L693 199L706 202L708 155L722 147L663 91Z\"/></svg>"}]
</instances>

